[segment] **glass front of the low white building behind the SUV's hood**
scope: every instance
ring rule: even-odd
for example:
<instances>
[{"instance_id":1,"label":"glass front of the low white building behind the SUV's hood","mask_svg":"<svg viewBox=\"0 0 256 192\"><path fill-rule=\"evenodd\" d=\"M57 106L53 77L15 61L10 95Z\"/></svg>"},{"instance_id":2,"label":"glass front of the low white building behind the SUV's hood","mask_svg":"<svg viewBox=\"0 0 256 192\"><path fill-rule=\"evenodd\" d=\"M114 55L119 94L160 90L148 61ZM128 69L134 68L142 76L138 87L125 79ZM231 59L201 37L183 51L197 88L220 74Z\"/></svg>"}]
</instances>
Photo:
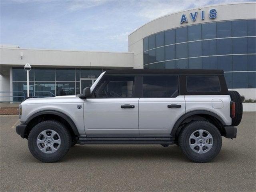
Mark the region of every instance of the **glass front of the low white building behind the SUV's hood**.
<instances>
[{"instance_id":1,"label":"glass front of the low white building behind the SUV's hood","mask_svg":"<svg viewBox=\"0 0 256 192\"><path fill-rule=\"evenodd\" d=\"M32 68L29 72L30 96L80 94L80 79L95 79L107 69ZM27 76L24 68L12 68L13 101L27 97Z\"/></svg>"}]
</instances>

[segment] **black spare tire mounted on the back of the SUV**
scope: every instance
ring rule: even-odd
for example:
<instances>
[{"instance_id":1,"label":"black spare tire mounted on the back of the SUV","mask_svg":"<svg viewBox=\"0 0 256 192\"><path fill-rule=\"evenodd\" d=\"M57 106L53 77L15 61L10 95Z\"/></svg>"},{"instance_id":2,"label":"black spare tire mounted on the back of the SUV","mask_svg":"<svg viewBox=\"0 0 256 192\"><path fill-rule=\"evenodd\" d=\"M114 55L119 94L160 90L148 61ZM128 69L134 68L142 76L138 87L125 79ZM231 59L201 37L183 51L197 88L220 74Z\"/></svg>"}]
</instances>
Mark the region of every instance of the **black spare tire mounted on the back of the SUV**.
<instances>
[{"instance_id":1,"label":"black spare tire mounted on the back of the SUV","mask_svg":"<svg viewBox=\"0 0 256 192\"><path fill-rule=\"evenodd\" d=\"M236 115L232 118L232 126L238 126L243 116L243 102L240 94L237 91L228 91L231 101L235 102Z\"/></svg>"}]
</instances>

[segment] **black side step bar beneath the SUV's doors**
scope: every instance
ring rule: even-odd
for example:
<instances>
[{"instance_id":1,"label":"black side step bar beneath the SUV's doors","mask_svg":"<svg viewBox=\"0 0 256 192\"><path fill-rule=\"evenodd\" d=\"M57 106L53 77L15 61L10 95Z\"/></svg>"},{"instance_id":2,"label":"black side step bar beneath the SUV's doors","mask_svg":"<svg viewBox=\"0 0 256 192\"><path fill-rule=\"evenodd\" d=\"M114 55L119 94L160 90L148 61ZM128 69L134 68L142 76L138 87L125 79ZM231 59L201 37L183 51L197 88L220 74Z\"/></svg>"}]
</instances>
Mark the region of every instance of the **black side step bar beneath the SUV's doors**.
<instances>
[{"instance_id":1,"label":"black side step bar beneath the SUV's doors","mask_svg":"<svg viewBox=\"0 0 256 192\"><path fill-rule=\"evenodd\" d=\"M171 145L171 136L80 136L78 144L161 144Z\"/></svg>"}]
</instances>

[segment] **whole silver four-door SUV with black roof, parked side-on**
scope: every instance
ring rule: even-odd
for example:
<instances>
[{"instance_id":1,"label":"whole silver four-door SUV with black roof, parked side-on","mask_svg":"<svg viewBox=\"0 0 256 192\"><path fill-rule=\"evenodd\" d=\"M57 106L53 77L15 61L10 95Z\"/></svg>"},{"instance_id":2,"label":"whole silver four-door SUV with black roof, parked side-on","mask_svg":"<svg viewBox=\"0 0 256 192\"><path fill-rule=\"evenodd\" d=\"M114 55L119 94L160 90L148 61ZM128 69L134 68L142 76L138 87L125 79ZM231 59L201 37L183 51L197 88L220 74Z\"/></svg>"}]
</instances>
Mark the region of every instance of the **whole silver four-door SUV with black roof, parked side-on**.
<instances>
[{"instance_id":1,"label":"whole silver four-door SUV with black roof, parked side-on","mask_svg":"<svg viewBox=\"0 0 256 192\"><path fill-rule=\"evenodd\" d=\"M208 162L236 138L242 102L222 70L127 69L102 73L76 96L27 98L16 132L42 162L75 144L171 144Z\"/></svg>"}]
</instances>

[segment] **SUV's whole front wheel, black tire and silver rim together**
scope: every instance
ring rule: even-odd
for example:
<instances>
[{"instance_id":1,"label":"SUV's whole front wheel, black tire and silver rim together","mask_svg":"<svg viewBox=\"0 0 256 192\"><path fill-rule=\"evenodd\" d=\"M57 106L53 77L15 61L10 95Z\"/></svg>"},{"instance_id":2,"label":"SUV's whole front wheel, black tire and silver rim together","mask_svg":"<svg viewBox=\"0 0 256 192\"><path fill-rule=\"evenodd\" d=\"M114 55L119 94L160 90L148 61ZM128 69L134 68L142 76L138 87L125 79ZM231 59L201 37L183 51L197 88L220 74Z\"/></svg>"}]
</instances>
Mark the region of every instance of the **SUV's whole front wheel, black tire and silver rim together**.
<instances>
[{"instance_id":1,"label":"SUV's whole front wheel, black tire and silver rim together","mask_svg":"<svg viewBox=\"0 0 256 192\"><path fill-rule=\"evenodd\" d=\"M60 160L71 146L71 135L66 126L54 120L38 123L29 133L28 148L42 162Z\"/></svg>"}]
</instances>

